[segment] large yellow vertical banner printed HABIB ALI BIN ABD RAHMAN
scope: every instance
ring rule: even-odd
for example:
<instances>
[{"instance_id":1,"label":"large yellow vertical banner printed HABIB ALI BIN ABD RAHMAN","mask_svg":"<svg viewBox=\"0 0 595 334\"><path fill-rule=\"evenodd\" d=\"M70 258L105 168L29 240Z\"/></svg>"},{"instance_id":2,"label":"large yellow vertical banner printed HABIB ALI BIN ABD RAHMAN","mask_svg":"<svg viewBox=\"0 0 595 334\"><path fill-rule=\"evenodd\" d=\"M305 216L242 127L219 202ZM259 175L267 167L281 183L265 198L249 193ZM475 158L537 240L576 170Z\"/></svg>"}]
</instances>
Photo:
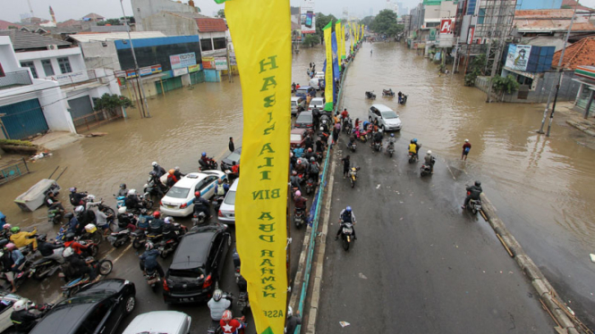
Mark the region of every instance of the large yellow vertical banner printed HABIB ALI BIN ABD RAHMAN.
<instances>
[{"instance_id":1,"label":"large yellow vertical banner printed HABIB ALI BIN ABD RAHMAN","mask_svg":"<svg viewBox=\"0 0 595 334\"><path fill-rule=\"evenodd\" d=\"M234 40L243 103L236 246L256 332L283 334L292 73L289 0L227 0L225 18Z\"/></svg>"}]
</instances>

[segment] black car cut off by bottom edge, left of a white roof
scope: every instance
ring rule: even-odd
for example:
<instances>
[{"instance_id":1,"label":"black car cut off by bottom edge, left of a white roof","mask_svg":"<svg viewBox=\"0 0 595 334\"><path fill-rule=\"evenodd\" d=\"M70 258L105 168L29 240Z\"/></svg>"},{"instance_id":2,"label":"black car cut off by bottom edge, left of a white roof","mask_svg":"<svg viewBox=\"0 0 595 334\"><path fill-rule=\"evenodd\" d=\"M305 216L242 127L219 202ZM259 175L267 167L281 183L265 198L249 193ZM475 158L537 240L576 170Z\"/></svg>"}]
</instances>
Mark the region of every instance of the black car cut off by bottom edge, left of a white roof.
<instances>
[{"instance_id":1,"label":"black car cut off by bottom edge, left of a white roof","mask_svg":"<svg viewBox=\"0 0 595 334\"><path fill-rule=\"evenodd\" d=\"M110 279L91 283L56 304L30 334L115 333L136 304L134 283Z\"/></svg>"}]
</instances>

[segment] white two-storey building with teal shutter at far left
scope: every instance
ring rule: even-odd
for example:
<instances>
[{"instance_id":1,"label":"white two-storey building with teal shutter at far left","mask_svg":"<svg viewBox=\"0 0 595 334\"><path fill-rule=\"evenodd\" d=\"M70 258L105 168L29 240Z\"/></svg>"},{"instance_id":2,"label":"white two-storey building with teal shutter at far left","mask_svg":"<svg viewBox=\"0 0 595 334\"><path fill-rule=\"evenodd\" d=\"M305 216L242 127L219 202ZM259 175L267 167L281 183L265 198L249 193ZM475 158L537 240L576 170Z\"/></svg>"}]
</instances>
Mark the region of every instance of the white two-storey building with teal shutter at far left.
<instances>
[{"instance_id":1,"label":"white two-storey building with teal shutter at far left","mask_svg":"<svg viewBox=\"0 0 595 334\"><path fill-rule=\"evenodd\" d=\"M4 136L27 138L47 130L76 132L110 117L92 99L120 95L114 72L88 71L79 47L21 30L0 31L0 114ZM83 128L84 127L84 128Z\"/></svg>"}]
</instances>

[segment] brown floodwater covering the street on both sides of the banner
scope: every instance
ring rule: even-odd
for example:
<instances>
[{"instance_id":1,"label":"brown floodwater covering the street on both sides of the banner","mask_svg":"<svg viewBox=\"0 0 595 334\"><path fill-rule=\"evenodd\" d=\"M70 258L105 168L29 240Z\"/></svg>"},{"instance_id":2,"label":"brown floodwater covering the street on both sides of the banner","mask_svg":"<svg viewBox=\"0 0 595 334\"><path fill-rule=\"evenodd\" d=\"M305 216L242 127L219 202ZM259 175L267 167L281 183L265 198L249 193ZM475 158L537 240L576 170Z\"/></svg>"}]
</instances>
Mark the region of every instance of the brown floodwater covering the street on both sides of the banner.
<instances>
[{"instance_id":1,"label":"brown floodwater covering the street on both sides of the banner","mask_svg":"<svg viewBox=\"0 0 595 334\"><path fill-rule=\"evenodd\" d=\"M323 57L322 46L302 49L293 59L293 81L306 86L308 64L315 62L321 71ZM595 202L595 151L577 144L575 129L557 121L552 137L539 135L535 129L543 113L540 105L486 104L479 89L463 87L462 77L438 77L437 65L395 43L364 44L348 75L344 103L350 105L353 117L368 119L372 103L387 104L403 121L404 129L395 134L401 143L418 138L422 153L431 149L438 155L438 163L448 165L455 180L481 180L508 229L555 288L573 305L584 306L578 307L582 312L591 312L595 301L595 264L589 260L595 249L595 205L591 205ZM407 104L383 98L383 88L404 92ZM377 100L364 99L366 90L374 90ZM136 109L128 110L128 119L97 129L106 132L105 137L82 138L31 163L31 174L2 187L0 211L13 225L35 225L41 232L57 230L48 225L45 207L22 213L13 204L16 196L47 178L56 166L60 166L56 175L68 167L59 180L63 188L60 198L67 209L71 206L67 188L73 186L103 197L115 207L112 194L119 184L142 189L153 161L166 170L180 166L183 172L198 171L201 152L220 161L228 153L229 137L234 137L236 147L242 144L238 77L233 83L202 83L168 92L150 99L149 108L150 119L140 119ZM463 163L460 154L465 138L470 139L472 150ZM404 153L396 154L404 159ZM443 196L453 203L453 211L460 211L462 203L457 201L464 196L464 188L453 188ZM50 237L54 235L50 233ZM293 246L301 245L294 242ZM134 280L144 283L136 257L130 254L126 258L133 264L122 269L121 276L136 272L140 278ZM44 282L41 291L46 289L55 296L57 284ZM150 307L149 300L158 303L157 297L149 298L140 304L144 305L141 310ZM595 319L590 313L588 316Z\"/></svg>"}]
</instances>

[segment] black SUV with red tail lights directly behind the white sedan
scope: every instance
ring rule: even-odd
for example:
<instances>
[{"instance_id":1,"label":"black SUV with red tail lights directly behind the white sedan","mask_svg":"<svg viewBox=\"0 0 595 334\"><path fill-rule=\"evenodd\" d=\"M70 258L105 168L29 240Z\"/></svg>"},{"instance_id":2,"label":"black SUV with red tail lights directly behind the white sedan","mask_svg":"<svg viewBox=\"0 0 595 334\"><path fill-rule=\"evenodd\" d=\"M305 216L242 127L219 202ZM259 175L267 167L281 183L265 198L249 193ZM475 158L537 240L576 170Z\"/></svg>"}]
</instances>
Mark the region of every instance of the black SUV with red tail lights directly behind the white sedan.
<instances>
[{"instance_id":1,"label":"black SUV with red tail lights directly behind the white sedan","mask_svg":"<svg viewBox=\"0 0 595 334\"><path fill-rule=\"evenodd\" d=\"M193 228L186 233L163 280L166 304L208 301L231 244L229 229L221 223Z\"/></svg>"}]
</instances>

